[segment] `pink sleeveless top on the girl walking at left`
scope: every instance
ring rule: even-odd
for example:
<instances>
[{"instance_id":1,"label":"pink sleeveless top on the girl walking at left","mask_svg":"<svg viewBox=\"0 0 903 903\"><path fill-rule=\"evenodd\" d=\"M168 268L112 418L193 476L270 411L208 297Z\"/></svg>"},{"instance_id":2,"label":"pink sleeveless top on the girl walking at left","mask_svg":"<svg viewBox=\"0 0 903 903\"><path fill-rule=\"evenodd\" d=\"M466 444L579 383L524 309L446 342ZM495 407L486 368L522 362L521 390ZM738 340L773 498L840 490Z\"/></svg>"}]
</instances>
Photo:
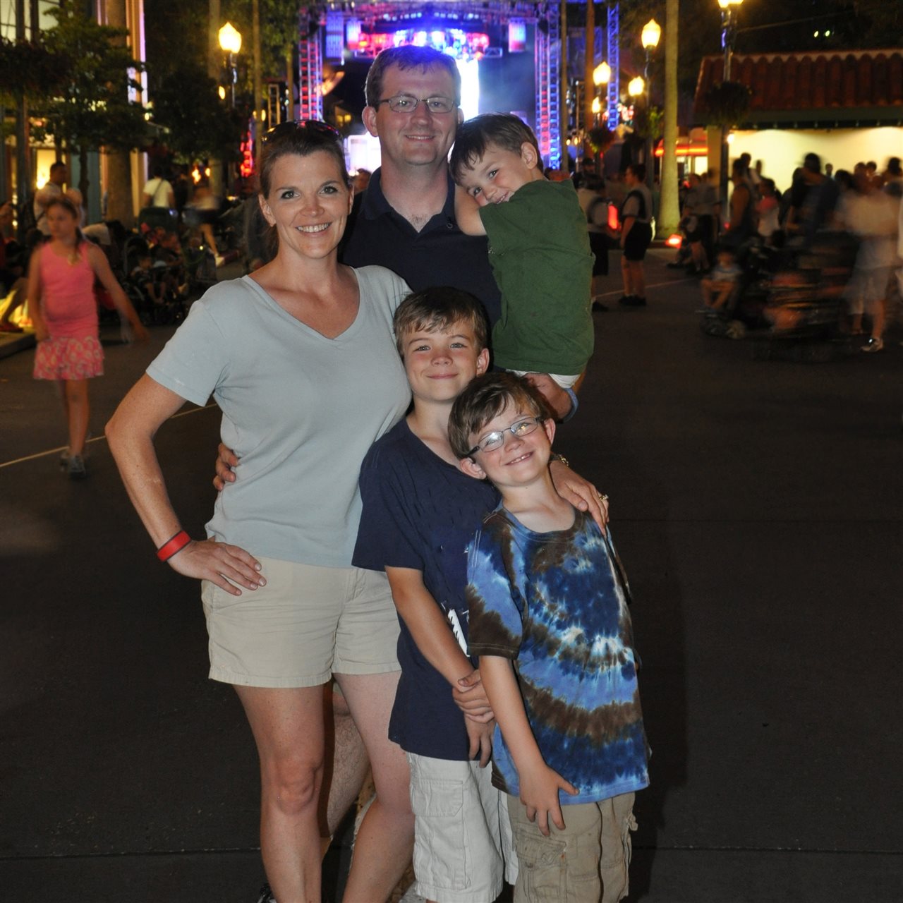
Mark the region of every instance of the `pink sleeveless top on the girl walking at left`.
<instances>
[{"instance_id":1,"label":"pink sleeveless top on the girl walking at left","mask_svg":"<svg viewBox=\"0 0 903 903\"><path fill-rule=\"evenodd\" d=\"M87 242L81 243L76 264L54 254L49 243L41 248L40 263L43 314L51 339L96 337L98 303Z\"/></svg>"}]
</instances>

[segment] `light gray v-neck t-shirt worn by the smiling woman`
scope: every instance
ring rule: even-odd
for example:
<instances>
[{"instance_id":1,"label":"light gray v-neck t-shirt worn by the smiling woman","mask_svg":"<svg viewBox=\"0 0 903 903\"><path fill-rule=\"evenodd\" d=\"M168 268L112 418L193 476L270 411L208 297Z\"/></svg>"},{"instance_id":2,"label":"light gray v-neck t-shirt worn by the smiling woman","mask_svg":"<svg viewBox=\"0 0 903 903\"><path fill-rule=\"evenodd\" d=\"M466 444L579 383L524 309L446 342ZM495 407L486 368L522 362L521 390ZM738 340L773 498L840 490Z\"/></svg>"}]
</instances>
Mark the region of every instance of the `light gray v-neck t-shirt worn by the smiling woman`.
<instances>
[{"instance_id":1,"label":"light gray v-neck t-shirt worn by the smiling woman","mask_svg":"<svg viewBox=\"0 0 903 903\"><path fill-rule=\"evenodd\" d=\"M411 390L392 316L408 293L381 266L355 270L358 315L328 339L249 276L213 286L147 374L222 410L236 481L208 535L251 554L348 567L360 519L358 474L370 445L405 414Z\"/></svg>"}]
</instances>

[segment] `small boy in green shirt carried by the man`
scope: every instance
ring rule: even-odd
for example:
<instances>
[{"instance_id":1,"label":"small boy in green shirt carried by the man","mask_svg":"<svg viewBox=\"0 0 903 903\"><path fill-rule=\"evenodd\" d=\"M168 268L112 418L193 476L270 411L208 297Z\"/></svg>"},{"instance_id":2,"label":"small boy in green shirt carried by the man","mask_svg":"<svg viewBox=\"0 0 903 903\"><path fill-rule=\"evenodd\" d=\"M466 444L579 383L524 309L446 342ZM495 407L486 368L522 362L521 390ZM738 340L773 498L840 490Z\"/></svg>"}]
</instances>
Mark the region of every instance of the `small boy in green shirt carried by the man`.
<instances>
[{"instance_id":1,"label":"small boy in green shirt carried by the man","mask_svg":"<svg viewBox=\"0 0 903 903\"><path fill-rule=\"evenodd\" d=\"M462 232L489 237L502 293L495 364L548 373L571 393L592 356L593 257L573 184L549 182L540 162L535 135L517 116L486 113L459 126L455 219Z\"/></svg>"}]
</instances>

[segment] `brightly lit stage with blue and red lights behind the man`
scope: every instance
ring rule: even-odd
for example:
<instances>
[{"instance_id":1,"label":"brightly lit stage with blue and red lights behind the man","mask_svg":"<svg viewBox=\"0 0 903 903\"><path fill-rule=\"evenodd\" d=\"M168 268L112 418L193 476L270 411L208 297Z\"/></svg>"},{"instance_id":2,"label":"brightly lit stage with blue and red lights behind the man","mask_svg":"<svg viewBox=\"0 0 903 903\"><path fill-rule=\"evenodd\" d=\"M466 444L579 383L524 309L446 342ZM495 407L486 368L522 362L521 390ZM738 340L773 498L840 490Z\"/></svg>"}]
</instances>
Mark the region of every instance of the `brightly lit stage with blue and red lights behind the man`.
<instances>
[{"instance_id":1,"label":"brightly lit stage with blue and red lights behind the man","mask_svg":"<svg viewBox=\"0 0 903 903\"><path fill-rule=\"evenodd\" d=\"M452 2L330 3L299 14L299 118L322 118L323 65L367 61L386 47L430 46L461 70L464 116L517 113L533 127L546 165L562 161L561 5Z\"/></svg>"}]
</instances>

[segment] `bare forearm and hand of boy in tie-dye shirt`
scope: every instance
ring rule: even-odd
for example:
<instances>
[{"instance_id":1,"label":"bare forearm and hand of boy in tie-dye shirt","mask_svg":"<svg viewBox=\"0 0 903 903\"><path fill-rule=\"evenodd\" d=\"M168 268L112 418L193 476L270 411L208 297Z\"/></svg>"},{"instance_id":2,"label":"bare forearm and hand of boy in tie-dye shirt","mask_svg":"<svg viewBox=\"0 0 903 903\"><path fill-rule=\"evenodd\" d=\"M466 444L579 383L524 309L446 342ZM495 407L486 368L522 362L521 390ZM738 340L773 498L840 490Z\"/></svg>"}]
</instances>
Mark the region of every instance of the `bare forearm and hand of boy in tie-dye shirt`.
<instances>
[{"instance_id":1,"label":"bare forearm and hand of boy in tie-dye shirt","mask_svg":"<svg viewBox=\"0 0 903 903\"><path fill-rule=\"evenodd\" d=\"M573 784L545 764L529 721L526 720L524 701L517 688L514 666L510 659L501 656L480 656L479 670L486 686L489 703L496 712L498 726L511 750L520 780L520 800L526 805L526 817L535 819L539 830L547 837L549 820L559 830L564 828L558 791L576 795Z\"/></svg>"}]
</instances>

